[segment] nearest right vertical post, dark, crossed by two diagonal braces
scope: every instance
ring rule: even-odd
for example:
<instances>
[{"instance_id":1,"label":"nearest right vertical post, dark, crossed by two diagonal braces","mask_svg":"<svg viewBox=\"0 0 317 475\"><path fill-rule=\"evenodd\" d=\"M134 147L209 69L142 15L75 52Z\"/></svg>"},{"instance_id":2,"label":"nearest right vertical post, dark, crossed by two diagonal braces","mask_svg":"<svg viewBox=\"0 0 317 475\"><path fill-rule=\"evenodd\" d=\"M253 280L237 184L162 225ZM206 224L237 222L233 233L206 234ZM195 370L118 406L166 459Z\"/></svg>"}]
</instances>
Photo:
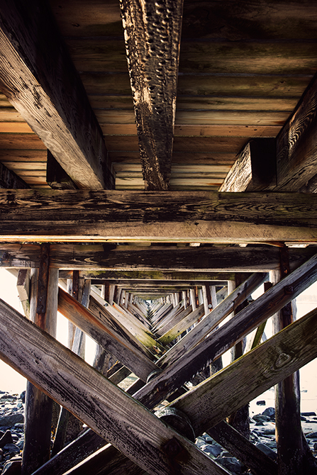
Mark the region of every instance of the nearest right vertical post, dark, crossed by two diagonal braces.
<instances>
[{"instance_id":1,"label":"nearest right vertical post, dark, crossed by two diagonal braces","mask_svg":"<svg viewBox=\"0 0 317 475\"><path fill-rule=\"evenodd\" d=\"M280 249L280 272L274 272L274 284L289 274L287 247ZM291 293L291 288L285 289ZM294 321L291 302L274 315L274 333ZM301 432L299 371L275 386L275 421L279 475L304 475Z\"/></svg>"}]
</instances>

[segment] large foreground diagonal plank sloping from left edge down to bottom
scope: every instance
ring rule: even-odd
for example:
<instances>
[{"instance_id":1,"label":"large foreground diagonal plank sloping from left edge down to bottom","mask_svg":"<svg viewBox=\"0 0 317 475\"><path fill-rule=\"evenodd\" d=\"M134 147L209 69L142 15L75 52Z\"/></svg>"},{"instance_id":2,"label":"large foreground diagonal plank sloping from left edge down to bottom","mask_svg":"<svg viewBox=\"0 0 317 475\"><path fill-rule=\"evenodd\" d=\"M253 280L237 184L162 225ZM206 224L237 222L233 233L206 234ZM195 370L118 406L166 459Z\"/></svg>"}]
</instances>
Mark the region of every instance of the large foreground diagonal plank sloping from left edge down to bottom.
<instances>
[{"instance_id":1,"label":"large foreground diagonal plank sloping from left edge down to bottom","mask_svg":"<svg viewBox=\"0 0 317 475\"><path fill-rule=\"evenodd\" d=\"M189 440L3 301L0 309L1 359L141 468L153 475L169 475L171 470L184 475L226 474ZM169 451L171 440L176 454Z\"/></svg>"}]
</instances>

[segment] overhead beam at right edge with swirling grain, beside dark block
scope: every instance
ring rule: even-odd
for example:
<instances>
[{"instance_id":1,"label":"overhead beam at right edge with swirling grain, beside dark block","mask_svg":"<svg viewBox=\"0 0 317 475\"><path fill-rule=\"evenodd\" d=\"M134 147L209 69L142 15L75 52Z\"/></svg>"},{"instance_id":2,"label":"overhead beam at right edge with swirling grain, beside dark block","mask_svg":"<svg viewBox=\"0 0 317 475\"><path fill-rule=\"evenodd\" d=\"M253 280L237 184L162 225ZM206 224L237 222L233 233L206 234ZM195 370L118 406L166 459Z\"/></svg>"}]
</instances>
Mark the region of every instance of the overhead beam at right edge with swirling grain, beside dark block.
<instances>
[{"instance_id":1,"label":"overhead beam at right edge with swirling grain, beside dark block","mask_svg":"<svg viewBox=\"0 0 317 475\"><path fill-rule=\"evenodd\" d=\"M277 135L277 186L299 191L316 175L317 75L304 92L294 113Z\"/></svg>"}]
</instances>

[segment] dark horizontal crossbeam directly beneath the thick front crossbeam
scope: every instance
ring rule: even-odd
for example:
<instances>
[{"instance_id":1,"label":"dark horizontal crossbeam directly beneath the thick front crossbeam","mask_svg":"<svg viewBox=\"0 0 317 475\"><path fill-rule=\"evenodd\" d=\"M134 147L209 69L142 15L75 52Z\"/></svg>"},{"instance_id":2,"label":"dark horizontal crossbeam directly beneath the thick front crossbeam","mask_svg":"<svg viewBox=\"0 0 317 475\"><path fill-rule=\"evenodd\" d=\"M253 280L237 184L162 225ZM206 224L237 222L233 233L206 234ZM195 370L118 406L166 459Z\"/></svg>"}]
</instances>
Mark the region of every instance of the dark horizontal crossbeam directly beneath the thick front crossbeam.
<instances>
[{"instance_id":1,"label":"dark horizontal crossbeam directly beneath the thick front crossbeam","mask_svg":"<svg viewBox=\"0 0 317 475\"><path fill-rule=\"evenodd\" d=\"M38 267L40 245L1 242L0 267ZM289 248L291 270L317 252L316 246ZM279 269L279 247L135 247L114 245L50 245L50 266L70 279L82 269L84 279L166 279L171 281L228 281L237 272ZM137 269L135 269L137 267Z\"/></svg>"}]
</instances>

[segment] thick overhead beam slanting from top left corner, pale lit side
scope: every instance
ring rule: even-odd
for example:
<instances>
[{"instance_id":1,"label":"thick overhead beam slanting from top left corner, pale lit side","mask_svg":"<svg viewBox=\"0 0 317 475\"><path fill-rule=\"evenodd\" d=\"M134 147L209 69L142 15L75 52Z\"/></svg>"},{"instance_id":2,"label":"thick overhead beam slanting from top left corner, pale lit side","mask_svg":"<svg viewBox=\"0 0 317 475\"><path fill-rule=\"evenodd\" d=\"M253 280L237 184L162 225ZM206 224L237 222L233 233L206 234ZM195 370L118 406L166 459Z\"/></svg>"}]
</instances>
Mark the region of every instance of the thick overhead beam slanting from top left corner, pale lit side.
<instances>
[{"instance_id":1,"label":"thick overhead beam slanting from top left corner, pale lit side","mask_svg":"<svg viewBox=\"0 0 317 475\"><path fill-rule=\"evenodd\" d=\"M1 91L79 188L113 189L101 128L48 4L3 1L0 38Z\"/></svg>"}]
</instances>

